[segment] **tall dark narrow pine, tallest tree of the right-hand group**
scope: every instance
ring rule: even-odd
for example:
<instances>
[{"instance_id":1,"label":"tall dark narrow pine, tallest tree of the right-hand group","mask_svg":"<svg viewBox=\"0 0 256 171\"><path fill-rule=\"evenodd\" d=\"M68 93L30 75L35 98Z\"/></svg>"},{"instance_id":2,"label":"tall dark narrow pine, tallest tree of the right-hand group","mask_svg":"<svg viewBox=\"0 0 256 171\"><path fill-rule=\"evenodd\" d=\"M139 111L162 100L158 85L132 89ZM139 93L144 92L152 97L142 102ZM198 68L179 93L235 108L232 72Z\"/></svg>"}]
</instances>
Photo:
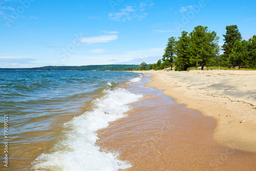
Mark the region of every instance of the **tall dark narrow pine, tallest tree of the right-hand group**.
<instances>
[{"instance_id":1,"label":"tall dark narrow pine, tallest tree of the right-hand group","mask_svg":"<svg viewBox=\"0 0 256 171\"><path fill-rule=\"evenodd\" d=\"M226 62L226 65L228 64L229 60L229 54L231 53L232 49L233 49L233 45L234 42L236 40L241 41L242 40L242 36L241 33L238 30L238 26L237 25L230 25L226 27L226 34L223 34L225 43L222 46L222 50L224 50L224 54L222 55L223 57L223 61ZM231 63L233 64L233 63Z\"/></svg>"}]
</instances>

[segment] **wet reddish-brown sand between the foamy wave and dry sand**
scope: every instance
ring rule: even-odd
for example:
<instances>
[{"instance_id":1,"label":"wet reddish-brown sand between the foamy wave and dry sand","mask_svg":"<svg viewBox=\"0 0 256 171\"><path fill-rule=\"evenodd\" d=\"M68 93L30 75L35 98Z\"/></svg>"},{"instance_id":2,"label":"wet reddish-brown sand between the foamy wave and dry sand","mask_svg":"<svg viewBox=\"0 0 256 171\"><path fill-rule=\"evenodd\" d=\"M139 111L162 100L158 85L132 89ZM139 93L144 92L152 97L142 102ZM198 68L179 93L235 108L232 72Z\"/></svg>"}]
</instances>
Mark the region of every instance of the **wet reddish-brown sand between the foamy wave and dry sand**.
<instances>
[{"instance_id":1,"label":"wet reddish-brown sand between the foamy wave and dry sand","mask_svg":"<svg viewBox=\"0 0 256 171\"><path fill-rule=\"evenodd\" d=\"M118 152L131 162L126 170L255 170L255 153L212 138L215 119L143 85L126 87L144 99L131 104L125 118L97 132L102 151Z\"/></svg>"}]
</instances>

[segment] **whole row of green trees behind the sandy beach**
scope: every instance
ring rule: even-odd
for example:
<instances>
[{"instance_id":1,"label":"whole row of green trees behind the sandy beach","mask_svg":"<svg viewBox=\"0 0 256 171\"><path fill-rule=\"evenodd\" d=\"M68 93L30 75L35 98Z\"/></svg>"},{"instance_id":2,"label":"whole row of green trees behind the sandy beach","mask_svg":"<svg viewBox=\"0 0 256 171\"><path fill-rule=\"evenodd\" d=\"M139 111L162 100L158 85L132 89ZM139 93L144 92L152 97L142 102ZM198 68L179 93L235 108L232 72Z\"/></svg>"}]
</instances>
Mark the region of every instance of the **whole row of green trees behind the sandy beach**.
<instances>
[{"instance_id":1,"label":"whole row of green trees behind the sandy beach","mask_svg":"<svg viewBox=\"0 0 256 171\"><path fill-rule=\"evenodd\" d=\"M181 36L168 38L162 59L148 66L147 69L161 70L175 66L176 71L185 71L187 68L226 67L256 69L256 35L248 40L242 40L237 25L226 27L223 34L225 42L219 47L219 39L215 31L208 27L197 26L188 34L181 32ZM220 50L224 53L219 55Z\"/></svg>"}]
</instances>

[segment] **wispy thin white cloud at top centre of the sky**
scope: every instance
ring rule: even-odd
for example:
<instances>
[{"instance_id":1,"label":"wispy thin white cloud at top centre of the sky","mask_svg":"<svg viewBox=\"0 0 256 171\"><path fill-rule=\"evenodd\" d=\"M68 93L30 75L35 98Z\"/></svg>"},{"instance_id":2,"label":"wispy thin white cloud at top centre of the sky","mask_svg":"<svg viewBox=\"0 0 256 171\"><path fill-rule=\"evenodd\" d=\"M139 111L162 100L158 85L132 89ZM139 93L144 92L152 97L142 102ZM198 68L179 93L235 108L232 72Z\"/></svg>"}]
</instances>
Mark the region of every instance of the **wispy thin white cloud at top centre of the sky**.
<instances>
[{"instance_id":1,"label":"wispy thin white cloud at top centre of the sky","mask_svg":"<svg viewBox=\"0 0 256 171\"><path fill-rule=\"evenodd\" d=\"M116 22L125 22L126 20L132 20L138 18L141 20L146 17L148 13L143 12L146 8L153 6L154 4L140 3L139 7L126 6L124 9L120 9L120 12L109 13L109 19L115 20Z\"/></svg>"}]
</instances>

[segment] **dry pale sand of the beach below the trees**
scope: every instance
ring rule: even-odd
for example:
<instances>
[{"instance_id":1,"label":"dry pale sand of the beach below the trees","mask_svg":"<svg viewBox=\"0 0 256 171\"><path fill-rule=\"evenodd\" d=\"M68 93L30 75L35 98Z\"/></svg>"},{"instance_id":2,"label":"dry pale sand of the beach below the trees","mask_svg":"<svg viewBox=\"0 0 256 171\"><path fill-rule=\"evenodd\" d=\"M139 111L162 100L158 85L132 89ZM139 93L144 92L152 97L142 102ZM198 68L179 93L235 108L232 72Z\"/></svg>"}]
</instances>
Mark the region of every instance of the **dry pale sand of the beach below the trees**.
<instances>
[{"instance_id":1,"label":"dry pale sand of the beach below the trees","mask_svg":"<svg viewBox=\"0 0 256 171\"><path fill-rule=\"evenodd\" d=\"M143 72L153 74L148 87L216 119L217 143L256 153L256 71Z\"/></svg>"}]
</instances>

